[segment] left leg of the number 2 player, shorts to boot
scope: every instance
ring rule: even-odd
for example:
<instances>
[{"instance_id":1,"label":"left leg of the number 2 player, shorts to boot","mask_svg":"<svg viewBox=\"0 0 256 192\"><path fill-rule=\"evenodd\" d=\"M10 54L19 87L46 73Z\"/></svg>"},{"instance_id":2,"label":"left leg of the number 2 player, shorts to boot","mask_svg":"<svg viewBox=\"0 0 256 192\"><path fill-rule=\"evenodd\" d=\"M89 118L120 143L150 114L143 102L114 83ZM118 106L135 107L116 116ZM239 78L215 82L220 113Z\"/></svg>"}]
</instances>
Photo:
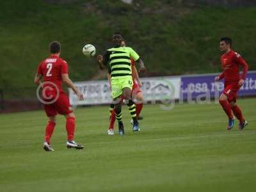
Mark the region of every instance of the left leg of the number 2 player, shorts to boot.
<instances>
[{"instance_id":1,"label":"left leg of the number 2 player, shorts to boot","mask_svg":"<svg viewBox=\"0 0 256 192\"><path fill-rule=\"evenodd\" d=\"M47 122L47 125L45 127L45 136L44 136L44 150L46 151L54 151L54 149L51 147L51 137L52 133L54 131L54 127L56 125L56 115L57 111L51 104L44 105L45 113L48 116L49 120Z\"/></svg>"}]
</instances>

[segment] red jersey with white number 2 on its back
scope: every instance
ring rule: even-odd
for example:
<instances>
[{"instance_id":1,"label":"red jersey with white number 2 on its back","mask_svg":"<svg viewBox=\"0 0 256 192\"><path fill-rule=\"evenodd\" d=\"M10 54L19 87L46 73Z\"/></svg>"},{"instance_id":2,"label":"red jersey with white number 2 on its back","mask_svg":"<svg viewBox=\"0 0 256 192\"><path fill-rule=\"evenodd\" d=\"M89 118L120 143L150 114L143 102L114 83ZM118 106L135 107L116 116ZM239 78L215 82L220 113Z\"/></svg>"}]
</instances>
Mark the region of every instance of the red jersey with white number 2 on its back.
<instances>
[{"instance_id":1,"label":"red jersey with white number 2 on its back","mask_svg":"<svg viewBox=\"0 0 256 192\"><path fill-rule=\"evenodd\" d=\"M44 77L44 82L50 81L51 83L56 84L60 90L62 90L61 74L68 74L68 64L58 56L51 55L49 58L40 63L37 68L37 73Z\"/></svg>"}]
</instances>

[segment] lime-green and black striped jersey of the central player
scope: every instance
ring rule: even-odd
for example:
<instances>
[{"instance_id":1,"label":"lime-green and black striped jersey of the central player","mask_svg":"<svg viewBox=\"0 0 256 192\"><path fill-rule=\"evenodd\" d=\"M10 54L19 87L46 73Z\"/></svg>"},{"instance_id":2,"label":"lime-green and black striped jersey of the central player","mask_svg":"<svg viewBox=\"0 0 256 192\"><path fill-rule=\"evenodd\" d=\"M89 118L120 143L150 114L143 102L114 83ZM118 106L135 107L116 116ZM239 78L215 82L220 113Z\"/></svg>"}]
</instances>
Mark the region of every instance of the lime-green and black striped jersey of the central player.
<instances>
[{"instance_id":1,"label":"lime-green and black striped jersey of the central player","mask_svg":"<svg viewBox=\"0 0 256 192\"><path fill-rule=\"evenodd\" d=\"M132 75L131 58L137 61L140 56L131 47L113 47L103 56L103 64L109 65L112 79L122 79Z\"/></svg>"}]
</instances>

